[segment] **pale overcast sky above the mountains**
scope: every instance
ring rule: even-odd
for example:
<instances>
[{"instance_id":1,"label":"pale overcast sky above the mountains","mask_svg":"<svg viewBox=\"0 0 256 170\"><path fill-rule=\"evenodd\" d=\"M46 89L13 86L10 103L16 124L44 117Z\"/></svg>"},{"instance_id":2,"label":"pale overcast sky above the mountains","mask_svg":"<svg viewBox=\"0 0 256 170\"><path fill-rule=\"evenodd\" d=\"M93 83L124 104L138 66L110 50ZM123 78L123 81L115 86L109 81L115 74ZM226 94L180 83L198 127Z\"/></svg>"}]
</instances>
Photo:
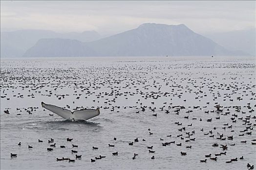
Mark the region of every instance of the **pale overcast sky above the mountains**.
<instances>
[{"instance_id":1,"label":"pale overcast sky above the mountains","mask_svg":"<svg viewBox=\"0 0 256 170\"><path fill-rule=\"evenodd\" d=\"M1 31L116 34L147 22L200 34L255 28L256 1L0 1Z\"/></svg>"}]
</instances>

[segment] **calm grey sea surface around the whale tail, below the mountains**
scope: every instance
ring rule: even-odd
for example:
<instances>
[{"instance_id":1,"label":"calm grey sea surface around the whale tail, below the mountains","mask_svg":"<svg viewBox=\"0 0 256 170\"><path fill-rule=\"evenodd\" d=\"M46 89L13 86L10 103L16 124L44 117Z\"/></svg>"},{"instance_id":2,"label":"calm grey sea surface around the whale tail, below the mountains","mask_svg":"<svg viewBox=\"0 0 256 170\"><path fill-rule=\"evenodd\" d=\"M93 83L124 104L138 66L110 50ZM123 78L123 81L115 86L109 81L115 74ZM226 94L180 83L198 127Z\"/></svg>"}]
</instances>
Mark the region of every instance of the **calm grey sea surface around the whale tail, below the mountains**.
<instances>
[{"instance_id":1,"label":"calm grey sea surface around the whale tail, below the mountains","mask_svg":"<svg viewBox=\"0 0 256 170\"><path fill-rule=\"evenodd\" d=\"M247 170L256 165L255 93L255 57L1 59L0 169ZM71 122L41 102L100 115Z\"/></svg>"}]
</instances>

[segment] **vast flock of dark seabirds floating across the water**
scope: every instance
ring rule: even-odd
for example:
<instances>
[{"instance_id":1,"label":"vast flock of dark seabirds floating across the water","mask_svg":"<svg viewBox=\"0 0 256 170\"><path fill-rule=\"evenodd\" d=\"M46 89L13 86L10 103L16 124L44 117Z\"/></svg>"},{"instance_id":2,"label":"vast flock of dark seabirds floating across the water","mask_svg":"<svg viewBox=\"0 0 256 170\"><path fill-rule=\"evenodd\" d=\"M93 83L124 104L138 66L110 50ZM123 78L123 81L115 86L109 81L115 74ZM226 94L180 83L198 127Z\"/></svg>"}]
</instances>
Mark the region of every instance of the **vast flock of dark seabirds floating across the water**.
<instances>
[{"instance_id":1,"label":"vast flock of dark seabirds floating across the water","mask_svg":"<svg viewBox=\"0 0 256 170\"><path fill-rule=\"evenodd\" d=\"M230 64L219 63L219 68L230 69L255 69L253 64ZM35 68L33 71L28 68L20 69L1 69L1 100L12 101L12 98L35 98L42 97L56 98L56 100L64 100L74 96L75 100L69 102L75 105L78 100L86 101L92 99L94 106L99 107L101 113L116 112L119 113L121 109L130 109L134 114L148 113L148 116L163 117L165 114L182 115L183 119L173 122L177 126L176 134L167 134L159 139L159 146L180 147L180 154L187 156L190 152L188 149L193 149L196 143L196 134L203 134L209 138L215 139L212 147L219 148L219 153L207 153L201 156L198 162L207 163L208 161L218 162L219 159L224 159L223 155L228 155L229 150L235 149L237 143L232 142L235 138L241 136L252 136L251 141L240 140L244 145L255 145L255 109L256 109L256 85L255 72L248 72L248 80L245 82L245 77L239 75L237 72L224 72L219 82L218 76L220 73L201 72L202 68L214 68L217 66L204 66L201 64L172 64L172 65L120 65L117 68L114 66L104 67L85 67L85 68ZM192 69L196 68L196 69ZM170 72L164 70L173 70ZM184 71L184 70L186 71ZM193 70L193 71L192 71ZM245 71L245 70L243 70ZM11 74L11 76L10 76ZM226 74L226 76L223 76ZM35 76L37 75L37 76ZM225 83L226 82L226 83ZM73 94L58 92L59 89L70 88ZM17 90L18 89L18 90ZM17 94L14 94L18 91ZM29 94L25 96L22 92L27 91ZM13 94L12 96L10 95ZM189 96L188 96L189 95ZM244 98L248 102L244 104ZM116 105L119 100L125 100L129 105ZM160 99L166 100L159 104ZM182 104L174 105L175 100L183 100ZM188 106L184 103L193 100L201 103L200 105ZM221 102L223 101L223 102ZM38 101L41 103L41 101ZM240 105L234 105L233 102L240 102ZM146 104L145 104L146 103ZM65 103L66 104L66 103ZM2 105L2 107L4 107ZM72 106L65 105L64 108ZM77 106L73 110L84 109L84 106ZM30 106L27 108L5 108L4 114L17 113L17 116L22 116L24 112L28 115L37 113L43 108ZM49 116L53 114L48 113ZM204 112L208 119L196 118L192 112ZM18 113L20 112L20 113ZM120 113L121 114L121 113ZM100 115L101 116L101 115ZM214 124L210 131L205 131L203 128L192 129L196 121L213 122L219 121L223 117L229 117L229 121L223 124L222 127L215 127ZM49 118L51 119L51 118ZM185 124L183 120L190 121ZM243 130L239 132L234 130L234 126L239 124ZM228 133L221 133L220 130L225 130ZM147 135L153 135L157 132L152 132L150 127ZM228 135L229 134L229 135ZM145 134L146 135L146 134ZM111 143L112 140L117 139L118 136L113 136L113 139L106 143L106 147L115 147L118 142ZM136 137L136 136L135 136ZM134 137L134 138L135 138ZM166 137L176 137L172 141L167 140ZM175 139L179 140L175 140ZM66 138L72 146L71 152L75 157L70 158L56 158L56 161L75 162L77 159L83 159L83 155L79 155L75 148L78 145L72 143L72 138ZM146 141L145 138L136 137L130 141L127 147L133 147L136 143ZM229 142L226 142L229 141ZM66 149L62 143L55 143L51 138L48 141L38 139L39 143L48 142L49 147L45 148L48 152L54 151L54 148L60 147ZM22 147L22 142L17 141L18 146ZM39 147L39 146L37 146ZM34 146L28 145L28 149L33 149ZM155 146L146 146L148 152L151 154L149 159L156 159ZM100 150L96 146L92 146L93 150ZM186 150L185 150L186 149ZM185 152L186 151L186 152ZM91 162L99 161L106 156L118 156L119 151L109 153L109 155L99 155L91 158ZM139 153L131 155L131 159L137 159ZM19 155L10 153L11 158L16 158ZM237 155L237 157L226 159L226 163L235 163L237 161L246 160L246 155ZM244 163L249 170L254 169L254 162Z\"/></svg>"}]
</instances>

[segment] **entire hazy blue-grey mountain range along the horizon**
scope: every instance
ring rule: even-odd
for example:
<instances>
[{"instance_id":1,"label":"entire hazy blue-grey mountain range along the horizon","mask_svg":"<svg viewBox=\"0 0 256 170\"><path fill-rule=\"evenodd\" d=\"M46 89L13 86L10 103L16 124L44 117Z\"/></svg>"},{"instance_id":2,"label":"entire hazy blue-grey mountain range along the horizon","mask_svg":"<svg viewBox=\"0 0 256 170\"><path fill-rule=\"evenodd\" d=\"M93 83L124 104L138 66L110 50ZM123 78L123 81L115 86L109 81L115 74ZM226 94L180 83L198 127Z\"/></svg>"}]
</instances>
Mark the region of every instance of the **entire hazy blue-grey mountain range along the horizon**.
<instances>
[{"instance_id":1,"label":"entire hazy blue-grey mountain range along the horizon","mask_svg":"<svg viewBox=\"0 0 256 170\"><path fill-rule=\"evenodd\" d=\"M245 35L246 33L243 34ZM60 34L52 31L21 30L1 33L0 56L255 55L255 40L253 41L251 38L253 35L243 36L241 33L233 33L232 38L227 37L230 36L229 34L225 35L207 35L212 37L214 42L205 36L194 33L184 24L165 25L153 23L145 23L136 29L105 38L94 31ZM221 40L223 36L226 41ZM235 40L236 36L240 36L240 39ZM230 41L227 39L230 39ZM241 39L248 43L243 42L246 45L241 44L239 46ZM235 45L232 46L232 44Z\"/></svg>"}]
</instances>

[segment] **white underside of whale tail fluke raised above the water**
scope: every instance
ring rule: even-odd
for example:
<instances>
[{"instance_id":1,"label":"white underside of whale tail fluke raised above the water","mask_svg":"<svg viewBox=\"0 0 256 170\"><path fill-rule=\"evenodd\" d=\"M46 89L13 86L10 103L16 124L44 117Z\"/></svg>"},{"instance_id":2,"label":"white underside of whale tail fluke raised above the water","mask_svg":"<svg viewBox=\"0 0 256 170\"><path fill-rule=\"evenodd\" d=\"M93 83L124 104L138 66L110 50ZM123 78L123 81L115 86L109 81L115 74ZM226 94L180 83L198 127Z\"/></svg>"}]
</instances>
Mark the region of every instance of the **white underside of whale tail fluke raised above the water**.
<instances>
[{"instance_id":1,"label":"white underside of whale tail fluke raised above the water","mask_svg":"<svg viewBox=\"0 0 256 170\"><path fill-rule=\"evenodd\" d=\"M51 105L51 104L45 104L44 102L41 102L42 107L45 109L59 115L60 117L63 117L64 119L68 119L71 121L76 120L88 120L95 116L98 116L100 114L100 109L84 109L84 110L75 110L71 112L70 110Z\"/></svg>"}]
</instances>

